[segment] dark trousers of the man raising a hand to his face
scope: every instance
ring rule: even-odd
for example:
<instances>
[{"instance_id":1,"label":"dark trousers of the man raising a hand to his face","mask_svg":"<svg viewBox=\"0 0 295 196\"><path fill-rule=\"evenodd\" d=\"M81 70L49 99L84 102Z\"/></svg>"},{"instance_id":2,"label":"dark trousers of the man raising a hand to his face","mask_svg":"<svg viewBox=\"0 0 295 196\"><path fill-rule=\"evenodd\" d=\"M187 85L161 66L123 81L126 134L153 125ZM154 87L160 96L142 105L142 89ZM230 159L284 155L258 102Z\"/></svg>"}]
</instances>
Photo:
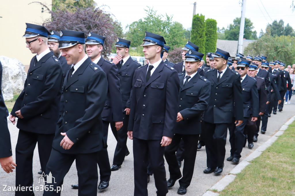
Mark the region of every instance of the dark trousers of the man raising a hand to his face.
<instances>
[{"instance_id":1,"label":"dark trousers of the man raising a hand to his face","mask_svg":"<svg viewBox=\"0 0 295 196\"><path fill-rule=\"evenodd\" d=\"M129 121L129 115L126 115L126 113L123 113L123 126L121 129L117 131L115 122L110 122L110 126L112 129L112 132L117 140L117 146L114 153L114 160L113 164L115 165L122 165L126 154L129 152L126 142L127 142L127 127L128 127L128 121Z\"/></svg>"}]
</instances>

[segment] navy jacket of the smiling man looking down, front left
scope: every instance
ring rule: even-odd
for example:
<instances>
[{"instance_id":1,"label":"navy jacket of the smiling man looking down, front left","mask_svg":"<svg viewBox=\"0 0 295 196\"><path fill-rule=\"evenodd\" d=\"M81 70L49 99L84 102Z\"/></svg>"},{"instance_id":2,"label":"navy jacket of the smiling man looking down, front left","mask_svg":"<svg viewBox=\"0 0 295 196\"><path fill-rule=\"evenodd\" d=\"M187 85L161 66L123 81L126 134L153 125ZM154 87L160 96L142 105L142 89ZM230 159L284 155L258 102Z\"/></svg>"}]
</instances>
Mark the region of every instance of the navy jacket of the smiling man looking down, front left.
<instances>
[{"instance_id":1,"label":"navy jacket of the smiling man looking down, front left","mask_svg":"<svg viewBox=\"0 0 295 196\"><path fill-rule=\"evenodd\" d=\"M103 128L101 112L107 94L107 80L104 71L88 57L62 87L65 106L53 139L52 147L66 154L85 154L101 150ZM69 150L60 146L66 133L74 142Z\"/></svg>"}]
</instances>

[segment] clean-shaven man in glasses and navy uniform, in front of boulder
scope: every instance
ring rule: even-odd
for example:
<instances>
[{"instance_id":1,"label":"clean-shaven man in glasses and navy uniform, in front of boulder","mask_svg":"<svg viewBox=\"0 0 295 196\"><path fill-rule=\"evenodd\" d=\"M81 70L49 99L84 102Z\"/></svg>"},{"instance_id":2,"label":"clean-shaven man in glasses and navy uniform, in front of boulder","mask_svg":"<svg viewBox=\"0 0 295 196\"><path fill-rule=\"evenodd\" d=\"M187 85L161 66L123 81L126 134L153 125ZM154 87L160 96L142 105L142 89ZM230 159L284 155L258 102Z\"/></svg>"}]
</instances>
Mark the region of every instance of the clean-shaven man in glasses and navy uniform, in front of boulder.
<instances>
[{"instance_id":1,"label":"clean-shaven man in glasses and navy uniform, in front of boulder","mask_svg":"<svg viewBox=\"0 0 295 196\"><path fill-rule=\"evenodd\" d=\"M41 169L45 171L58 121L62 80L60 61L47 46L49 31L44 26L26 24L23 36L26 47L36 56L31 60L24 89L9 116L13 124L18 117L15 184L20 187L33 184L32 162L37 142ZM34 192L18 190L15 195L34 195Z\"/></svg>"}]
</instances>

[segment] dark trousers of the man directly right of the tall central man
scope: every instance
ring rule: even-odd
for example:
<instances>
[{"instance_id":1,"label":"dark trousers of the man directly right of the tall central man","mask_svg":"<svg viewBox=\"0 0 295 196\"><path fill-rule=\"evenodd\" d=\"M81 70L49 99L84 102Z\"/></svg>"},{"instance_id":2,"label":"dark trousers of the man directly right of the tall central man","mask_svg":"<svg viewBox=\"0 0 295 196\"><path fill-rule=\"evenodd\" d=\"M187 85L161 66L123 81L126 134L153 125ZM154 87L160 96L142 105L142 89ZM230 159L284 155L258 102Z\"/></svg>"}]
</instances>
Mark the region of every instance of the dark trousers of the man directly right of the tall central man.
<instances>
[{"instance_id":1,"label":"dark trousers of the man directly right of the tall central man","mask_svg":"<svg viewBox=\"0 0 295 196\"><path fill-rule=\"evenodd\" d=\"M181 171L177 163L175 152L177 151L181 139L184 144L184 163L182 170L183 177L178 182L180 186L187 188L191 184L194 173L199 134L174 134L171 144L165 147L164 155L168 163L170 178L173 180L178 179L181 176Z\"/></svg>"}]
</instances>

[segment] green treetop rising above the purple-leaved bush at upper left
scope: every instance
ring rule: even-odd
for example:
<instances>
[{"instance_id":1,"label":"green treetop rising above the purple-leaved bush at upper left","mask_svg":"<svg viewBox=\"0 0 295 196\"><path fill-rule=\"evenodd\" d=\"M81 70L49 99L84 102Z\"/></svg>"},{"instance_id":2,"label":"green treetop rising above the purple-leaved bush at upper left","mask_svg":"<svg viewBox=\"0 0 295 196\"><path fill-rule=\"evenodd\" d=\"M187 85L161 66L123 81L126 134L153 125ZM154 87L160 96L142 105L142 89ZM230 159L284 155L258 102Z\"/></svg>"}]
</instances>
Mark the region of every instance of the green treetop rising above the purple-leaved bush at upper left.
<instances>
[{"instance_id":1,"label":"green treetop rising above the purple-leaved bush at upper left","mask_svg":"<svg viewBox=\"0 0 295 196\"><path fill-rule=\"evenodd\" d=\"M94 0L52 0L52 11L68 10L76 11L76 7L95 9L96 2Z\"/></svg>"}]
</instances>

